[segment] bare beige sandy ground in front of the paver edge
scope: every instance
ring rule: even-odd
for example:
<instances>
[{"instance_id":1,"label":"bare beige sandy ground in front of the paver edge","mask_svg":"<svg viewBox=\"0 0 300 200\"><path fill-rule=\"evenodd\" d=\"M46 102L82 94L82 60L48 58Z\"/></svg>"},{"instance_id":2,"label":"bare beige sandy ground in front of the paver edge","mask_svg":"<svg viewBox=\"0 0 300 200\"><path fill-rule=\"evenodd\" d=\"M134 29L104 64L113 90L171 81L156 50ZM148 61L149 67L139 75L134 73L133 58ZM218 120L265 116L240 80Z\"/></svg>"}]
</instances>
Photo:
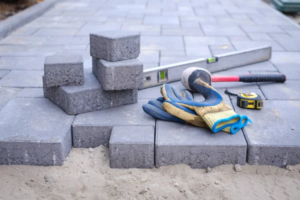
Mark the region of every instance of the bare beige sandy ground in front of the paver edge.
<instances>
[{"instance_id":1,"label":"bare beige sandy ground in front of the paver edge","mask_svg":"<svg viewBox=\"0 0 300 200\"><path fill-rule=\"evenodd\" d=\"M300 164L111 169L108 149L72 148L62 166L0 165L0 199L299 199Z\"/></svg>"}]
</instances>

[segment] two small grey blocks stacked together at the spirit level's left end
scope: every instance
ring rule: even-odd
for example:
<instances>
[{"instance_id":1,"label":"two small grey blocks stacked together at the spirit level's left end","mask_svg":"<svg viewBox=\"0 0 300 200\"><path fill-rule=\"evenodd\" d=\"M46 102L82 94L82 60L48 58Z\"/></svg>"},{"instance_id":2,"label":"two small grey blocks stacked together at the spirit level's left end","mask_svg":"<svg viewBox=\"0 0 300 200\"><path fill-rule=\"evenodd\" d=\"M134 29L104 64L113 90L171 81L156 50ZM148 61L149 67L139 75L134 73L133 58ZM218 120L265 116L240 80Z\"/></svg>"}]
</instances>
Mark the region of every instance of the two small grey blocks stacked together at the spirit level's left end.
<instances>
[{"instance_id":1,"label":"two small grey blocks stacked together at the spirit level's left end","mask_svg":"<svg viewBox=\"0 0 300 200\"><path fill-rule=\"evenodd\" d=\"M136 59L140 35L131 31L90 34L92 72L104 90L142 88L143 64Z\"/></svg>"}]
</instances>

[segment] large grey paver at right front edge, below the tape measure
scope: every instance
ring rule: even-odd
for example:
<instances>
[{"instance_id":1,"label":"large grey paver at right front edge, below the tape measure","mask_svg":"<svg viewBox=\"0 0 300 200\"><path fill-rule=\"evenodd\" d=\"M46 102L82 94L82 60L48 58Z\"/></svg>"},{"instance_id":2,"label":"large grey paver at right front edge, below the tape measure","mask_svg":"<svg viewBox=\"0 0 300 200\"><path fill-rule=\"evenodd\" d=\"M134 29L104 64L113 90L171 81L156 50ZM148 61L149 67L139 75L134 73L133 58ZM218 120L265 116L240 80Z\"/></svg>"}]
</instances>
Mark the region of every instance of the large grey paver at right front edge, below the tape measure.
<instances>
[{"instance_id":1,"label":"large grey paver at right front edge, below the tape measure","mask_svg":"<svg viewBox=\"0 0 300 200\"><path fill-rule=\"evenodd\" d=\"M238 113L252 120L243 128L248 143L247 163L279 167L300 163L300 134L294 120L300 111L299 103L295 100L264 100L261 110L234 105Z\"/></svg>"}]
</instances>

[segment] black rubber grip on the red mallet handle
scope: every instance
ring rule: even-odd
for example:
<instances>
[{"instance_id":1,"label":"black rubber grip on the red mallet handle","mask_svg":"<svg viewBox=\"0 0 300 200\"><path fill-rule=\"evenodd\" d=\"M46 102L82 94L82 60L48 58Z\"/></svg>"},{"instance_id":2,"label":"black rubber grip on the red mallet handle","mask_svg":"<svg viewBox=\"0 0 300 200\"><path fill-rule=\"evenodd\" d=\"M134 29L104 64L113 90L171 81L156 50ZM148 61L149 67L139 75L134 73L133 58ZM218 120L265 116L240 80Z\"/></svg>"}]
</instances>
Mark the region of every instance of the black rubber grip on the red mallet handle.
<instances>
[{"instance_id":1,"label":"black rubber grip on the red mallet handle","mask_svg":"<svg viewBox=\"0 0 300 200\"><path fill-rule=\"evenodd\" d=\"M284 82L286 80L284 74L249 74L238 77L240 82Z\"/></svg>"}]
</instances>

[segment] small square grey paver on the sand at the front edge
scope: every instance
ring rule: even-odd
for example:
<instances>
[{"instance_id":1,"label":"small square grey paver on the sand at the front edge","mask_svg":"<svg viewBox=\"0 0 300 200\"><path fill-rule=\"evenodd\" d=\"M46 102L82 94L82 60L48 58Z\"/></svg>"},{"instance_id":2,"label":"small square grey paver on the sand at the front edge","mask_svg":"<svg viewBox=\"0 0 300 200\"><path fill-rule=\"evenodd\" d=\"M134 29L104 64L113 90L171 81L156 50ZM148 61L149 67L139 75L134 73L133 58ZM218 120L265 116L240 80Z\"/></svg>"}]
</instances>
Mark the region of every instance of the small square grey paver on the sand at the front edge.
<instances>
[{"instance_id":1,"label":"small square grey paver on the sand at the front edge","mask_svg":"<svg viewBox=\"0 0 300 200\"><path fill-rule=\"evenodd\" d=\"M154 128L114 126L109 140L111 168L153 168Z\"/></svg>"}]
</instances>

